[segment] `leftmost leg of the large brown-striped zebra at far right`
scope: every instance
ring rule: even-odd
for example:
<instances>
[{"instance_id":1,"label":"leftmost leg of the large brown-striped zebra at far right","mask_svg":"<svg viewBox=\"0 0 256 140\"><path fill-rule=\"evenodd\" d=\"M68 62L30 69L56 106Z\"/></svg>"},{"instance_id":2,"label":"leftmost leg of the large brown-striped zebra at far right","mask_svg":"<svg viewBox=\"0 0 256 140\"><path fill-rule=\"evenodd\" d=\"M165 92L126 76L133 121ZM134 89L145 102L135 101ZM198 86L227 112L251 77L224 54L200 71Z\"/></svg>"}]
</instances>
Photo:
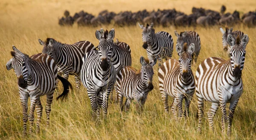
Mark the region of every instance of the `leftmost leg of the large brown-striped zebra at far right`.
<instances>
[{"instance_id":1,"label":"leftmost leg of the large brown-striped zebra at far right","mask_svg":"<svg viewBox=\"0 0 256 140\"><path fill-rule=\"evenodd\" d=\"M204 116L204 97L196 90L198 98L198 133L201 133L202 118Z\"/></svg>"}]
</instances>

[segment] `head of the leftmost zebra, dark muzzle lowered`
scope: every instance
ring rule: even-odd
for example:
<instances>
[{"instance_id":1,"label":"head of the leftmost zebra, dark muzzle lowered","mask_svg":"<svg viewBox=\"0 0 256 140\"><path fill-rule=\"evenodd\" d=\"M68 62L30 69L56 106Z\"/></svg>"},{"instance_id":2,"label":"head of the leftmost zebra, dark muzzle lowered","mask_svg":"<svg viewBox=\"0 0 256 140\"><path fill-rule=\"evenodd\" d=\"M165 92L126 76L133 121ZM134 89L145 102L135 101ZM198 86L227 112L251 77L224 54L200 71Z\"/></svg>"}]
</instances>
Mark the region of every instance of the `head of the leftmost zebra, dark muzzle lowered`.
<instances>
[{"instance_id":1,"label":"head of the leftmost zebra, dark muzzle lowered","mask_svg":"<svg viewBox=\"0 0 256 140\"><path fill-rule=\"evenodd\" d=\"M11 51L12 58L7 62L6 69L14 69L18 78L18 85L25 89L27 87L28 69L26 63L28 63L29 56L20 52L15 46L12 46L14 51Z\"/></svg>"}]
</instances>

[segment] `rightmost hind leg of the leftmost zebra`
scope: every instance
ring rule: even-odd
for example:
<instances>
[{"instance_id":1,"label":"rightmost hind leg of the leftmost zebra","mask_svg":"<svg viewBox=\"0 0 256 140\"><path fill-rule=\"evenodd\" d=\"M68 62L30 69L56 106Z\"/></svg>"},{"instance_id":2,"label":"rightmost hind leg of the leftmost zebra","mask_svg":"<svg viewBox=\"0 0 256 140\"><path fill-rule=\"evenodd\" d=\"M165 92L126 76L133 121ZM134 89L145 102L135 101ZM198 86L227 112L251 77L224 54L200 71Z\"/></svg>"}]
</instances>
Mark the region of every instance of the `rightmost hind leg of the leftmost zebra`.
<instances>
[{"instance_id":1,"label":"rightmost hind leg of the leftmost zebra","mask_svg":"<svg viewBox=\"0 0 256 140\"><path fill-rule=\"evenodd\" d=\"M53 99L53 92L46 95L46 106L45 106L45 112L46 112L46 128L50 128L50 112L51 112L51 104Z\"/></svg>"}]
</instances>

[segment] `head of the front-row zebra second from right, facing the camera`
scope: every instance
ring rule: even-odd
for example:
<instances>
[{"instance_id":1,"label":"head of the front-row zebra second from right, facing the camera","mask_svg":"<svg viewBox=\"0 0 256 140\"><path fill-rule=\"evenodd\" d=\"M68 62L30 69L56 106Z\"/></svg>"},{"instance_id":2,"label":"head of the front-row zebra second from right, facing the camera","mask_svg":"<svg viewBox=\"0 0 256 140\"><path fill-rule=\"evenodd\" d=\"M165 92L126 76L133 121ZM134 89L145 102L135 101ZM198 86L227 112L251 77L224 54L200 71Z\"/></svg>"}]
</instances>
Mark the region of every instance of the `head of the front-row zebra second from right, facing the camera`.
<instances>
[{"instance_id":1,"label":"head of the front-row zebra second from right, facing the camera","mask_svg":"<svg viewBox=\"0 0 256 140\"><path fill-rule=\"evenodd\" d=\"M177 52L180 54L179 62L180 62L180 74L183 80L187 80L189 75L192 73L191 71L191 55L195 52L195 44L191 43L189 48L187 48L187 43L184 43L184 47L180 45L176 46Z\"/></svg>"}]
</instances>

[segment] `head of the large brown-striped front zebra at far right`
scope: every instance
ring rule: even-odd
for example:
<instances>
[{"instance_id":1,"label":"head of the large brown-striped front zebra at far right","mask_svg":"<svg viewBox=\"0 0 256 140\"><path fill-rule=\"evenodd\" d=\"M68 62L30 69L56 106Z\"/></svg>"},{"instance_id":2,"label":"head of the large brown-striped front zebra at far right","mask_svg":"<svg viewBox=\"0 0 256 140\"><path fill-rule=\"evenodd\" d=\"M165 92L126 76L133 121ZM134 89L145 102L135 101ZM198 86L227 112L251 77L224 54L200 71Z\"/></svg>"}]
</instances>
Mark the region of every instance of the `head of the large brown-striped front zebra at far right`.
<instances>
[{"instance_id":1,"label":"head of the large brown-striped front zebra at far right","mask_svg":"<svg viewBox=\"0 0 256 140\"><path fill-rule=\"evenodd\" d=\"M236 79L240 79L242 75L242 70L244 68L244 60L245 60L245 48L247 43L249 42L249 37L245 34L240 41L240 37L238 36L236 39L233 35L229 34L227 36L227 42L230 45L230 62L231 62L231 70L233 71L233 76Z\"/></svg>"}]
</instances>

